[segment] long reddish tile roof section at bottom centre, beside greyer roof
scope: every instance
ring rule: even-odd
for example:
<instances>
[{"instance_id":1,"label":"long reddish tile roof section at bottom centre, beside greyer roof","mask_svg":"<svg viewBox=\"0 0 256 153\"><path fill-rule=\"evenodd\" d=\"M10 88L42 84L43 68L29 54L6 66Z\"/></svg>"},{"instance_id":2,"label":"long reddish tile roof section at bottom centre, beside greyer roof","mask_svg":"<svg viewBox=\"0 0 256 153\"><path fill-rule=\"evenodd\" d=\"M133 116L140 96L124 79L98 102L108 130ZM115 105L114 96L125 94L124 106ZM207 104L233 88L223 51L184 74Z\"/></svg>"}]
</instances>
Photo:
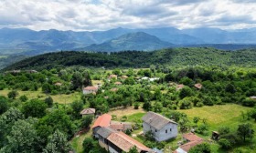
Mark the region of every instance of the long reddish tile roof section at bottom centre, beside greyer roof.
<instances>
[{"instance_id":1,"label":"long reddish tile roof section at bottom centre, beside greyer roof","mask_svg":"<svg viewBox=\"0 0 256 153\"><path fill-rule=\"evenodd\" d=\"M150 148L145 147L142 143L127 136L123 132L112 133L107 139L125 152L128 152L134 146L137 148L138 152L142 150L150 151Z\"/></svg>"}]
</instances>

